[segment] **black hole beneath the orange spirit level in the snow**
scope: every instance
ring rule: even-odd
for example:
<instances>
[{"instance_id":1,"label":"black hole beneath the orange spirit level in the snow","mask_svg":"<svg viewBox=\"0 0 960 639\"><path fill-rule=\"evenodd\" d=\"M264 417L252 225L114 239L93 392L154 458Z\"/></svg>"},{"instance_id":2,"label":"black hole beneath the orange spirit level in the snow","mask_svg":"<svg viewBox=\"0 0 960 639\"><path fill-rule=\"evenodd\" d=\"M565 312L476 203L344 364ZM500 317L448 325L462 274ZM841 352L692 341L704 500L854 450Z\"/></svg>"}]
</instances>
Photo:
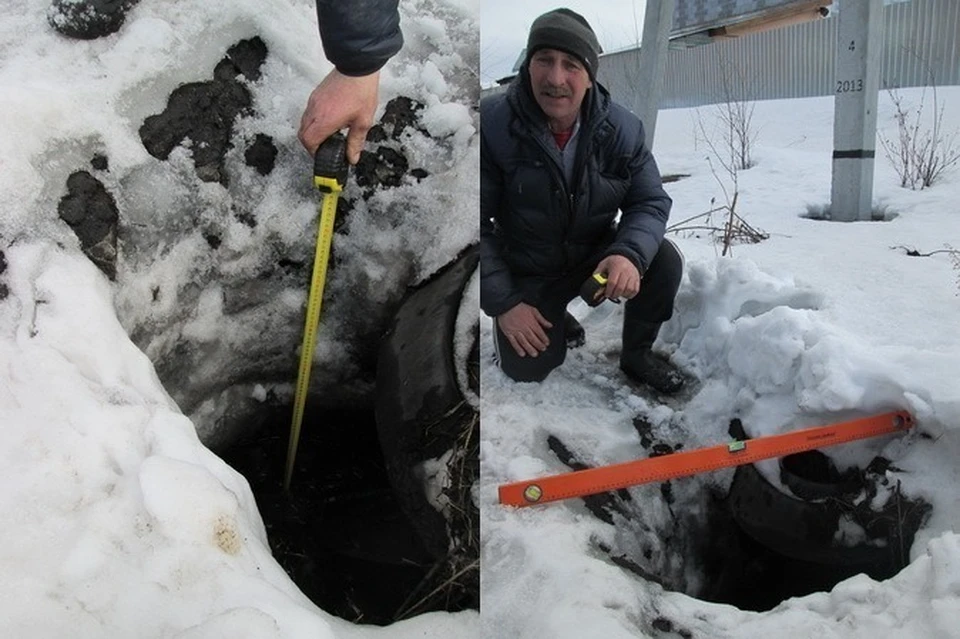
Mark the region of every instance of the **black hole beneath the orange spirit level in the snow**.
<instances>
[{"instance_id":1,"label":"black hole beneath the orange spirit level in the snow","mask_svg":"<svg viewBox=\"0 0 960 639\"><path fill-rule=\"evenodd\" d=\"M880 581L906 567L929 504L907 498L895 484L886 503L872 508L878 490L890 486L873 464L841 473L812 451L783 458L780 468L783 483L802 498L746 465L729 495L708 499L701 599L764 611L860 573Z\"/></svg>"}]
</instances>

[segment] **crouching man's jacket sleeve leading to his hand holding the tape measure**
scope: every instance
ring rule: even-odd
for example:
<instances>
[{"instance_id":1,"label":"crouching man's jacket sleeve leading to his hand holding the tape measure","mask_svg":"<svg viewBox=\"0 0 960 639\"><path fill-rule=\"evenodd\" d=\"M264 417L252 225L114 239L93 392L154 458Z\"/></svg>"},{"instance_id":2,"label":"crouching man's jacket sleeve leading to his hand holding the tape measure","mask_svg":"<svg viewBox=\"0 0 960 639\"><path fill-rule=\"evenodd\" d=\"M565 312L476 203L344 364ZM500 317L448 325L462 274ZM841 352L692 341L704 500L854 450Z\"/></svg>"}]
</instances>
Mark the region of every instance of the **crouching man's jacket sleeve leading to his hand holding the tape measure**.
<instances>
[{"instance_id":1,"label":"crouching man's jacket sleeve leading to his hand holding the tape measure","mask_svg":"<svg viewBox=\"0 0 960 639\"><path fill-rule=\"evenodd\" d=\"M663 241L673 200L663 190L660 169L644 139L643 124L638 121L637 126L634 152L628 164L630 186L620 205L616 238L606 255L623 255L642 275Z\"/></svg>"}]
</instances>

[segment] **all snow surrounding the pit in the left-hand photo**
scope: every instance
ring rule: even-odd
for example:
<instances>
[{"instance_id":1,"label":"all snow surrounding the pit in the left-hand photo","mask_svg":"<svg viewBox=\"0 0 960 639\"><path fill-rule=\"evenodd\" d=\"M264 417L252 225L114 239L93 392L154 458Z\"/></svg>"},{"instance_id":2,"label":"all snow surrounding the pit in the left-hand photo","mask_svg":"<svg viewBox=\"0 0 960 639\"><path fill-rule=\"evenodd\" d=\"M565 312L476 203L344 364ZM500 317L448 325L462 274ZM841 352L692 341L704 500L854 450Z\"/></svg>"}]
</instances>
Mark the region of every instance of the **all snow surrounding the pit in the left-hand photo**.
<instances>
[{"instance_id":1,"label":"all snow surrounding the pit in the left-hand photo","mask_svg":"<svg viewBox=\"0 0 960 639\"><path fill-rule=\"evenodd\" d=\"M421 100L429 127L449 139L411 134L411 166L430 177L362 203L349 221L355 233L335 247L353 279L330 289L371 307L477 237L475 122L461 103L476 94L462 69L477 63L476 37L464 34L476 31L479 8L475 0L403 4L407 45L383 70L381 101ZM181 380L202 387L224 358L267 342L277 327L301 328L288 318L301 317L302 285L271 291L243 315L235 305L258 293L256 276L275 251L312 249L305 229L315 229L316 198L296 125L330 69L313 3L141 2L118 33L82 42L47 25L48 5L10 0L0 20L0 635L475 636L472 611L381 629L318 609L271 557L246 480L198 437L222 414L218 392L262 402L283 385L213 386L188 416L152 361L181 340L206 348ZM248 86L255 113L238 120L236 139L274 138L271 176L245 168L233 149L227 191L198 183L189 145L167 162L150 157L138 135L144 118L178 85L209 80L230 46L255 35L270 55ZM128 233L116 283L57 217L66 177L90 170L96 153L109 158L98 177ZM255 213L256 228L234 219L233 207ZM219 258L200 233L210 225L222 231ZM369 245L357 246L365 231ZM326 308L316 357L334 378L349 377L355 333L338 305Z\"/></svg>"}]
</instances>

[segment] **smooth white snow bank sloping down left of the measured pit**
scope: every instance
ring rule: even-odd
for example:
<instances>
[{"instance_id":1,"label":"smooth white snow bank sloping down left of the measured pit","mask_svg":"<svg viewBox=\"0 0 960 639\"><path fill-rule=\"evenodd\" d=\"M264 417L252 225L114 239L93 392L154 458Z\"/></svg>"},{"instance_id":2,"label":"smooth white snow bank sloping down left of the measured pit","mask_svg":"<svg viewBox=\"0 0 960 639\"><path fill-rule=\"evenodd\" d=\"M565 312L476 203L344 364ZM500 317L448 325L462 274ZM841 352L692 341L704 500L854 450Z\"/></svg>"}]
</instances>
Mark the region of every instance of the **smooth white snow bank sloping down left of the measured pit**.
<instances>
[{"instance_id":1,"label":"smooth white snow bank sloping down left of the measured pit","mask_svg":"<svg viewBox=\"0 0 960 639\"><path fill-rule=\"evenodd\" d=\"M50 243L6 255L5 635L470 634L473 613L391 634L318 610L273 560L246 480L200 444L126 337L99 271Z\"/></svg>"}]
</instances>

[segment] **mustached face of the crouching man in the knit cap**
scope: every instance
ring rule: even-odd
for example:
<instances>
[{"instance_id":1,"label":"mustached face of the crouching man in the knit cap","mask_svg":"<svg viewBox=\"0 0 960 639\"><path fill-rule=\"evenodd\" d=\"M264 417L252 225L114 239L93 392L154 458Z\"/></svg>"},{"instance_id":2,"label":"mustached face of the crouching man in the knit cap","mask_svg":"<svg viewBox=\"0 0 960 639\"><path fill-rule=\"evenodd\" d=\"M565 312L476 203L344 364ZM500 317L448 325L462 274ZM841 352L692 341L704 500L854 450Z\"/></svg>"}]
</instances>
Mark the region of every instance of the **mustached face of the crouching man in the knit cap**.
<instances>
[{"instance_id":1,"label":"mustached face of the crouching man in the knit cap","mask_svg":"<svg viewBox=\"0 0 960 639\"><path fill-rule=\"evenodd\" d=\"M539 49L530 58L530 85L537 104L551 124L566 130L573 126L587 89L590 74L579 58L556 49Z\"/></svg>"}]
</instances>

